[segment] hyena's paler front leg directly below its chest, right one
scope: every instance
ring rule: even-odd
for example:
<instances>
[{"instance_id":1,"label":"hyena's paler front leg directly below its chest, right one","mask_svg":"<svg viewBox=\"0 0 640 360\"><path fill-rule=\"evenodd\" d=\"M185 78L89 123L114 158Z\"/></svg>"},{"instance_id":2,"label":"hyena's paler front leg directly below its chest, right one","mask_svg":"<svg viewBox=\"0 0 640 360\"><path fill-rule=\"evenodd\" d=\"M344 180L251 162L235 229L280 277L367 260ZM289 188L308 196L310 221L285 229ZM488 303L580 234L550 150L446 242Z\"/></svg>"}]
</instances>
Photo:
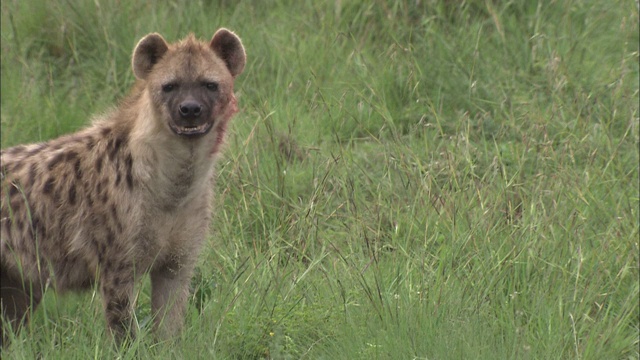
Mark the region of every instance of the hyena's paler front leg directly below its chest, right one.
<instances>
[{"instance_id":1,"label":"hyena's paler front leg directly below its chest, right one","mask_svg":"<svg viewBox=\"0 0 640 360\"><path fill-rule=\"evenodd\" d=\"M192 274L192 262L172 262L151 272L151 309L155 329L163 338L176 335L183 326Z\"/></svg>"}]
</instances>

